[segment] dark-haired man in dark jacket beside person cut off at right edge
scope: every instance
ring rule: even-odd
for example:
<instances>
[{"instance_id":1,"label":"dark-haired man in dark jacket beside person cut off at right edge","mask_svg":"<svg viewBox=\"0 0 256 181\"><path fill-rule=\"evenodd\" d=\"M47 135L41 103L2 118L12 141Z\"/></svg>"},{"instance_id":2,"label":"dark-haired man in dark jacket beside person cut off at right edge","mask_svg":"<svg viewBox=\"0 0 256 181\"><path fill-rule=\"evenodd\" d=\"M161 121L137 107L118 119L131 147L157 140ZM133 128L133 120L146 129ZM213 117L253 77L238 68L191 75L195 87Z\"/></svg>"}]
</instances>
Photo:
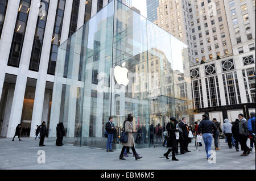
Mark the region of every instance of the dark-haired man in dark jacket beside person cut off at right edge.
<instances>
[{"instance_id":1,"label":"dark-haired man in dark jacket beside person cut off at right edge","mask_svg":"<svg viewBox=\"0 0 256 181\"><path fill-rule=\"evenodd\" d=\"M247 121L242 113L238 115L238 119L239 119L240 145L241 145L241 149L243 150L243 154L241 154L241 156L247 156L250 154L250 149L246 144L248 139Z\"/></svg>"}]
</instances>

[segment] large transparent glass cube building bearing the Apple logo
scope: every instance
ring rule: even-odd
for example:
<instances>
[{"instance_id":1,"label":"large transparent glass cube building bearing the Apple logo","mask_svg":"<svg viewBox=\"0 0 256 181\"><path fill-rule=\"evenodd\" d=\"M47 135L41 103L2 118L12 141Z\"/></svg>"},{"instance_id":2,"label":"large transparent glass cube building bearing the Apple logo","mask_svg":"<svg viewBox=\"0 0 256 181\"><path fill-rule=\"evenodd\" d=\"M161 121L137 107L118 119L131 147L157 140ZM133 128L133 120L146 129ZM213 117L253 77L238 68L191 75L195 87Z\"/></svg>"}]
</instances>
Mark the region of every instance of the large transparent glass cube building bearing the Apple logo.
<instances>
[{"instance_id":1,"label":"large transparent glass cube building bearing the Apple logo","mask_svg":"<svg viewBox=\"0 0 256 181\"><path fill-rule=\"evenodd\" d=\"M154 144L150 125L188 117L192 100L188 47L119 1L111 1L60 45L49 140L64 123L65 142L106 147L108 117L117 133L134 114L136 146ZM159 144L162 145L162 142Z\"/></svg>"}]
</instances>

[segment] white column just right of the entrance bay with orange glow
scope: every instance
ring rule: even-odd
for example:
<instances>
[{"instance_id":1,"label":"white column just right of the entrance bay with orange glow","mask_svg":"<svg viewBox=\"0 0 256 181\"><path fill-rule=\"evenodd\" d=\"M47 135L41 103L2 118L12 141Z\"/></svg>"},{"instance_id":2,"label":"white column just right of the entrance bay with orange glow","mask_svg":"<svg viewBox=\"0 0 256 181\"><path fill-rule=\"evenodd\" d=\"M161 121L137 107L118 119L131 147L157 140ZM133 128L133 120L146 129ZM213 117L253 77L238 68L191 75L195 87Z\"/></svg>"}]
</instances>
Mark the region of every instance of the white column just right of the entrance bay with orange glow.
<instances>
[{"instance_id":1,"label":"white column just right of the entrance bay with orange glow","mask_svg":"<svg viewBox=\"0 0 256 181\"><path fill-rule=\"evenodd\" d=\"M52 32L54 27L54 21L57 9L57 1L50 1L49 10L47 15L47 23L46 23L46 32L44 33L43 47L42 53L40 57L40 65L38 71L38 81L36 82L36 90L35 90L35 99L34 99L34 108L32 113L32 121L31 121L31 129L30 129L30 137L35 136L36 125L40 125L42 123L42 112L44 106L44 90L46 89L46 75L48 69L48 61L49 61L49 52L51 51L51 42L52 42ZM49 32L49 33L47 33ZM47 112L48 116L48 112ZM47 124L47 120L46 121Z\"/></svg>"}]
</instances>

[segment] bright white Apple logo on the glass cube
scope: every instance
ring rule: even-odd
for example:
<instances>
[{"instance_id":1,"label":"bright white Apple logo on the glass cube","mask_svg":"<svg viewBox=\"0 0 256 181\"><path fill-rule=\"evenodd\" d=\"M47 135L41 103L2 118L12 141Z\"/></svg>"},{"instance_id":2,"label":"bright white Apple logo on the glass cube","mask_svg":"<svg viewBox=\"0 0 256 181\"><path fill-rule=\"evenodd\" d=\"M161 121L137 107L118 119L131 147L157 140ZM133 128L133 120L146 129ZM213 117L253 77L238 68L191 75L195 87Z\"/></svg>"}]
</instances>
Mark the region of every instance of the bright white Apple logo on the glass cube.
<instances>
[{"instance_id":1,"label":"bright white Apple logo on the glass cube","mask_svg":"<svg viewBox=\"0 0 256 181\"><path fill-rule=\"evenodd\" d=\"M115 66L114 77L115 77L115 81L117 81L119 85L127 86L129 83L129 79L127 78L128 69L123 68L124 66L125 66L125 62L123 62L122 68L119 65Z\"/></svg>"}]
</instances>

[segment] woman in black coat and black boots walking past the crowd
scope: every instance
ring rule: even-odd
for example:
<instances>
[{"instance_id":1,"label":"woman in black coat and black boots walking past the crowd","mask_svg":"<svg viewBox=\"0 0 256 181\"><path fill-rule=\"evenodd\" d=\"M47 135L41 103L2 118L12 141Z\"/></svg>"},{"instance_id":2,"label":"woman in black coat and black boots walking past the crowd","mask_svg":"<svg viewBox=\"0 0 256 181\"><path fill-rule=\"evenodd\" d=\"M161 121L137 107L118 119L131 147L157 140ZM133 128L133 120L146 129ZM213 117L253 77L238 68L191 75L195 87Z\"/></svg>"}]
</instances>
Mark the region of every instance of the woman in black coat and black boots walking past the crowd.
<instances>
[{"instance_id":1,"label":"woman in black coat and black boots walking past the crowd","mask_svg":"<svg viewBox=\"0 0 256 181\"><path fill-rule=\"evenodd\" d=\"M175 119L175 117L171 117L170 120L171 120L171 122L167 123L167 125L166 125L166 129L168 131L168 138L167 138L168 151L166 153L164 153L164 156L167 159L169 159L168 154L171 153L171 151L172 151L172 160L179 161L179 159L177 159L175 157L175 150L177 148L177 140L176 140L175 132L178 132L178 129L176 129L176 119Z\"/></svg>"}]
</instances>

